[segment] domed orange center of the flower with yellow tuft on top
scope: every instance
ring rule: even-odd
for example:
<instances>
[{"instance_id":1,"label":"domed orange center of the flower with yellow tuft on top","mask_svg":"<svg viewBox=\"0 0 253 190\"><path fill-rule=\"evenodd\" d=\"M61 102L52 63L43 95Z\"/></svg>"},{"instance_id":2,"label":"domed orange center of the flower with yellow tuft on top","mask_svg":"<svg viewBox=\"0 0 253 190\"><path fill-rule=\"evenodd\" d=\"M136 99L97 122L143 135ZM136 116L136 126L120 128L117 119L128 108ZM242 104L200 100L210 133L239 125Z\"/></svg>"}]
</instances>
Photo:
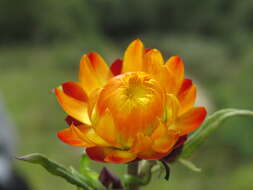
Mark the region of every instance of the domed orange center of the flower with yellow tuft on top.
<instances>
[{"instance_id":1,"label":"domed orange center of the flower with yellow tuft on top","mask_svg":"<svg viewBox=\"0 0 253 190\"><path fill-rule=\"evenodd\" d=\"M117 127L125 134L150 131L164 110L164 92L144 72L129 72L112 78L98 101L99 110L109 109Z\"/></svg>"}]
</instances>

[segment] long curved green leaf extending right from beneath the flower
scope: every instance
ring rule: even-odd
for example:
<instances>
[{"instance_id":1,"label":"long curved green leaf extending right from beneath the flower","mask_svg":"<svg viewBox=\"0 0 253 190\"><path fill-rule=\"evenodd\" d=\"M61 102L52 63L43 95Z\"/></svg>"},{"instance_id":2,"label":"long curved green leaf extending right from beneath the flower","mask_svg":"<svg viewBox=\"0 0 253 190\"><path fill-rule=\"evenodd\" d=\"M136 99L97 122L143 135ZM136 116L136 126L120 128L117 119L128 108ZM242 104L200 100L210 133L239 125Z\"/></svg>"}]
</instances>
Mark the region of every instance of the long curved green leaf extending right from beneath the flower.
<instances>
[{"instance_id":1,"label":"long curved green leaf extending right from beneath the flower","mask_svg":"<svg viewBox=\"0 0 253 190\"><path fill-rule=\"evenodd\" d=\"M253 111L239 109L223 109L207 117L204 124L196 130L187 140L180 154L181 158L189 158L200 145L209 137L226 119L236 116L252 116Z\"/></svg>"}]
</instances>

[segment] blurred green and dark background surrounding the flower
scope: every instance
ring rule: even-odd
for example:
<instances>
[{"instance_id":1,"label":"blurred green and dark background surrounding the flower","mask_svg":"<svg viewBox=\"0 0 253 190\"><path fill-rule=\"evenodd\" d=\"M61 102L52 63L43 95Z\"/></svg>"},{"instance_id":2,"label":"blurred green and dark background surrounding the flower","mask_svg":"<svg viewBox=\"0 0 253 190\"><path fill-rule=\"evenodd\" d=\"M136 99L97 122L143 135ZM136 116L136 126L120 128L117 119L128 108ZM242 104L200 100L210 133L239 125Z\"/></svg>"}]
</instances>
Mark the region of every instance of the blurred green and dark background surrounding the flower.
<instances>
[{"instance_id":1,"label":"blurred green and dark background surrounding the flower","mask_svg":"<svg viewBox=\"0 0 253 190\"><path fill-rule=\"evenodd\" d=\"M10 154L40 152L78 167L81 150L56 137L67 125L51 89L77 80L82 54L99 52L110 64L136 38L165 58L184 59L209 114L253 109L252 0L1 0L0 93L15 131ZM169 182L154 176L145 189L252 190L252 125L252 118L227 121L192 157L202 173L176 164ZM75 189L39 166L13 167L32 190ZM110 168L121 175L124 166Z\"/></svg>"}]
</instances>

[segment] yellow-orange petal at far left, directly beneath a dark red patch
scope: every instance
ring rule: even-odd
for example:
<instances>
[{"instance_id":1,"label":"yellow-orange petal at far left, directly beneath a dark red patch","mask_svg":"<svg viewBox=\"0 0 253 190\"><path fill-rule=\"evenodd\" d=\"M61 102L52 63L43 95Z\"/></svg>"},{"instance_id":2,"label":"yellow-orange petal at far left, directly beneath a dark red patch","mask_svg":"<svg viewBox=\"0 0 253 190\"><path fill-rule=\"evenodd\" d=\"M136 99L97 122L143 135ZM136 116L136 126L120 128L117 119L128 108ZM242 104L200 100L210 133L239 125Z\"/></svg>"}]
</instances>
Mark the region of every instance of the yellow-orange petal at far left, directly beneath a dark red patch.
<instances>
[{"instance_id":1,"label":"yellow-orange petal at far left, directly beneath a dark red patch","mask_svg":"<svg viewBox=\"0 0 253 190\"><path fill-rule=\"evenodd\" d=\"M67 95L62 89L56 88L55 95L63 110L82 123L90 124L87 103Z\"/></svg>"}]
</instances>

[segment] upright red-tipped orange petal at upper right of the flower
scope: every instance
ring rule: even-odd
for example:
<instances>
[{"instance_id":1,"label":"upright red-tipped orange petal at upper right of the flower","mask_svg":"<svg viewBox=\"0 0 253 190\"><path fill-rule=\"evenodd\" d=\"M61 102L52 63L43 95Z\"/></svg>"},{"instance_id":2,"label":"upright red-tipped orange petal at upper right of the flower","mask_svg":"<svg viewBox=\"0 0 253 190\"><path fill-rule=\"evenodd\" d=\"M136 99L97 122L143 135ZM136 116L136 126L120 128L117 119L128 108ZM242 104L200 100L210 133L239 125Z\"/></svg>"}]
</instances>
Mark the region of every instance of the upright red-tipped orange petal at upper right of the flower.
<instances>
[{"instance_id":1,"label":"upright red-tipped orange petal at upper right of the flower","mask_svg":"<svg viewBox=\"0 0 253 190\"><path fill-rule=\"evenodd\" d=\"M178 56L173 56L166 62L165 66L172 75L167 87L168 93L177 94L184 79L183 60Z\"/></svg>"}]
</instances>

